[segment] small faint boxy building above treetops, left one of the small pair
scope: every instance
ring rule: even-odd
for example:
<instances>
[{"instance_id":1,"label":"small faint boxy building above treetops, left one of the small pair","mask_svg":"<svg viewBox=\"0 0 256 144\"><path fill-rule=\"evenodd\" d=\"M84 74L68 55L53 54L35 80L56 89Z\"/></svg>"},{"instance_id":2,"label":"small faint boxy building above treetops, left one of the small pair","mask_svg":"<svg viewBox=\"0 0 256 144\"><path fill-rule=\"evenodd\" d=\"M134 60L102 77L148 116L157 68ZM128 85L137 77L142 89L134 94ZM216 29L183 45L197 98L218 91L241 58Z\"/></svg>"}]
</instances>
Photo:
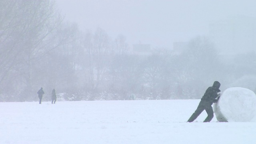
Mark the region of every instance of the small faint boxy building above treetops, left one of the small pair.
<instances>
[{"instance_id":1,"label":"small faint boxy building above treetops, left one of the small pair","mask_svg":"<svg viewBox=\"0 0 256 144\"><path fill-rule=\"evenodd\" d=\"M132 54L135 55L151 55L150 44L133 44Z\"/></svg>"}]
</instances>

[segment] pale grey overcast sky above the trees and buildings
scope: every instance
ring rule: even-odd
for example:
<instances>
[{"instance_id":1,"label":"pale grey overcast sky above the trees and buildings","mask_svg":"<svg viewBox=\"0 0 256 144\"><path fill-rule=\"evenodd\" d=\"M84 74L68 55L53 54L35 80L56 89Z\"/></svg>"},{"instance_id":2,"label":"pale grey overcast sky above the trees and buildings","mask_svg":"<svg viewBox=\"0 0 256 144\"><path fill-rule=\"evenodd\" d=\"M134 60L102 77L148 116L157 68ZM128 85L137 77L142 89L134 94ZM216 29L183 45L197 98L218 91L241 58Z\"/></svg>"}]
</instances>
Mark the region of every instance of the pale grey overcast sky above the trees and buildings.
<instances>
[{"instance_id":1,"label":"pale grey overcast sky above the trees and buildings","mask_svg":"<svg viewBox=\"0 0 256 144\"><path fill-rule=\"evenodd\" d=\"M128 44L172 48L173 42L208 34L209 23L256 17L256 0L56 0L66 20L81 30L102 28Z\"/></svg>"}]
</instances>

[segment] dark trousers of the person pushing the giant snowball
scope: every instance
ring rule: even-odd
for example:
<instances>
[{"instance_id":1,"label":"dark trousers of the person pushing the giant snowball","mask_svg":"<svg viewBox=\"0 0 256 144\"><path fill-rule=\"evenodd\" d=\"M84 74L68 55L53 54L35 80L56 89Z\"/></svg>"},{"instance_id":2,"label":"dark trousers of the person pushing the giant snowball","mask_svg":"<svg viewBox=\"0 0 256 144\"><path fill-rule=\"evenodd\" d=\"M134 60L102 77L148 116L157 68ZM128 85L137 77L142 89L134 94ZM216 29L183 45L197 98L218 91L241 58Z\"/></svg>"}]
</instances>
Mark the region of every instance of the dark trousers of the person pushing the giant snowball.
<instances>
[{"instance_id":1,"label":"dark trousers of the person pushing the giant snowball","mask_svg":"<svg viewBox=\"0 0 256 144\"><path fill-rule=\"evenodd\" d=\"M204 110L206 110L206 113L208 114L204 122L210 122L213 118L212 106L204 100L200 101L198 107L196 108L196 111L188 119L188 122L193 122Z\"/></svg>"}]
</instances>

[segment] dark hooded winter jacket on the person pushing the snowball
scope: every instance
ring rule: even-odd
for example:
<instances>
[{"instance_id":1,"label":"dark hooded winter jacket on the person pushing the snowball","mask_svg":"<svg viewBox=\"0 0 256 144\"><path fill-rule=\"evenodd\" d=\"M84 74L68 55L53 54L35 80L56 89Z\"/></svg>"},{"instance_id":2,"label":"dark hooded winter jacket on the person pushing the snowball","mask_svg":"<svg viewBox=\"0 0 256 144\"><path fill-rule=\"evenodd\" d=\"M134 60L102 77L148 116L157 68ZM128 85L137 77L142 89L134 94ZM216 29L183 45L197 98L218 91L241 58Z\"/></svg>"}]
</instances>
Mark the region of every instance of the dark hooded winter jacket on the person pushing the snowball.
<instances>
[{"instance_id":1,"label":"dark hooded winter jacket on the person pushing the snowball","mask_svg":"<svg viewBox=\"0 0 256 144\"><path fill-rule=\"evenodd\" d=\"M219 88L220 88L220 82L215 81L213 83L213 86L210 86L209 88L207 88L201 100L207 102L207 104L210 104L210 105L212 105L212 103L218 102L218 99L216 100L216 98L218 97L218 92L220 92Z\"/></svg>"}]
</instances>

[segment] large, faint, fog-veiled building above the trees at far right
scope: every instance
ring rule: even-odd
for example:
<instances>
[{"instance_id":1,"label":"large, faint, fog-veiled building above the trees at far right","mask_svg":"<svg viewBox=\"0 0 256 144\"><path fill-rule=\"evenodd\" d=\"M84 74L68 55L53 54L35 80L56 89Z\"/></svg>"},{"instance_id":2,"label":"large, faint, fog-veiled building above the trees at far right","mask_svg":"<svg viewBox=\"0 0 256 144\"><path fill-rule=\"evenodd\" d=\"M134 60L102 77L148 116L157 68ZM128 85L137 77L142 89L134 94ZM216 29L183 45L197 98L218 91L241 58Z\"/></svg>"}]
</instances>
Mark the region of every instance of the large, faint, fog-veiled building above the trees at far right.
<instances>
[{"instance_id":1,"label":"large, faint, fog-veiled building above the trees at far right","mask_svg":"<svg viewBox=\"0 0 256 144\"><path fill-rule=\"evenodd\" d=\"M212 22L209 32L222 55L256 51L256 18L232 17Z\"/></svg>"}]
</instances>

